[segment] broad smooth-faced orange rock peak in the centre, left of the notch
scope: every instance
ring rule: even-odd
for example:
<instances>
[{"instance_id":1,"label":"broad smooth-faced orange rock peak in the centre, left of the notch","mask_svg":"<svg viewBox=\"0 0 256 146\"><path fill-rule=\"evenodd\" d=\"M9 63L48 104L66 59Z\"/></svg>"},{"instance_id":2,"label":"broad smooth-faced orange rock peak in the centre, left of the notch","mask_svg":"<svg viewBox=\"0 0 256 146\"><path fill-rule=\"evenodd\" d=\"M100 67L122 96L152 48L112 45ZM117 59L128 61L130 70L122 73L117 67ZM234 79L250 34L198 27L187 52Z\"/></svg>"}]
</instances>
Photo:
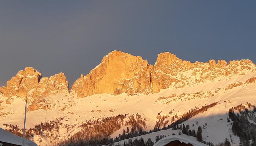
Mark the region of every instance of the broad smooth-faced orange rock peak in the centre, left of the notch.
<instances>
[{"instance_id":1,"label":"broad smooth-faced orange rock peak in the centre, left of the notch","mask_svg":"<svg viewBox=\"0 0 256 146\"><path fill-rule=\"evenodd\" d=\"M101 93L149 93L153 66L142 57L112 51L86 76L76 80L72 91L77 97Z\"/></svg>"}]
</instances>

